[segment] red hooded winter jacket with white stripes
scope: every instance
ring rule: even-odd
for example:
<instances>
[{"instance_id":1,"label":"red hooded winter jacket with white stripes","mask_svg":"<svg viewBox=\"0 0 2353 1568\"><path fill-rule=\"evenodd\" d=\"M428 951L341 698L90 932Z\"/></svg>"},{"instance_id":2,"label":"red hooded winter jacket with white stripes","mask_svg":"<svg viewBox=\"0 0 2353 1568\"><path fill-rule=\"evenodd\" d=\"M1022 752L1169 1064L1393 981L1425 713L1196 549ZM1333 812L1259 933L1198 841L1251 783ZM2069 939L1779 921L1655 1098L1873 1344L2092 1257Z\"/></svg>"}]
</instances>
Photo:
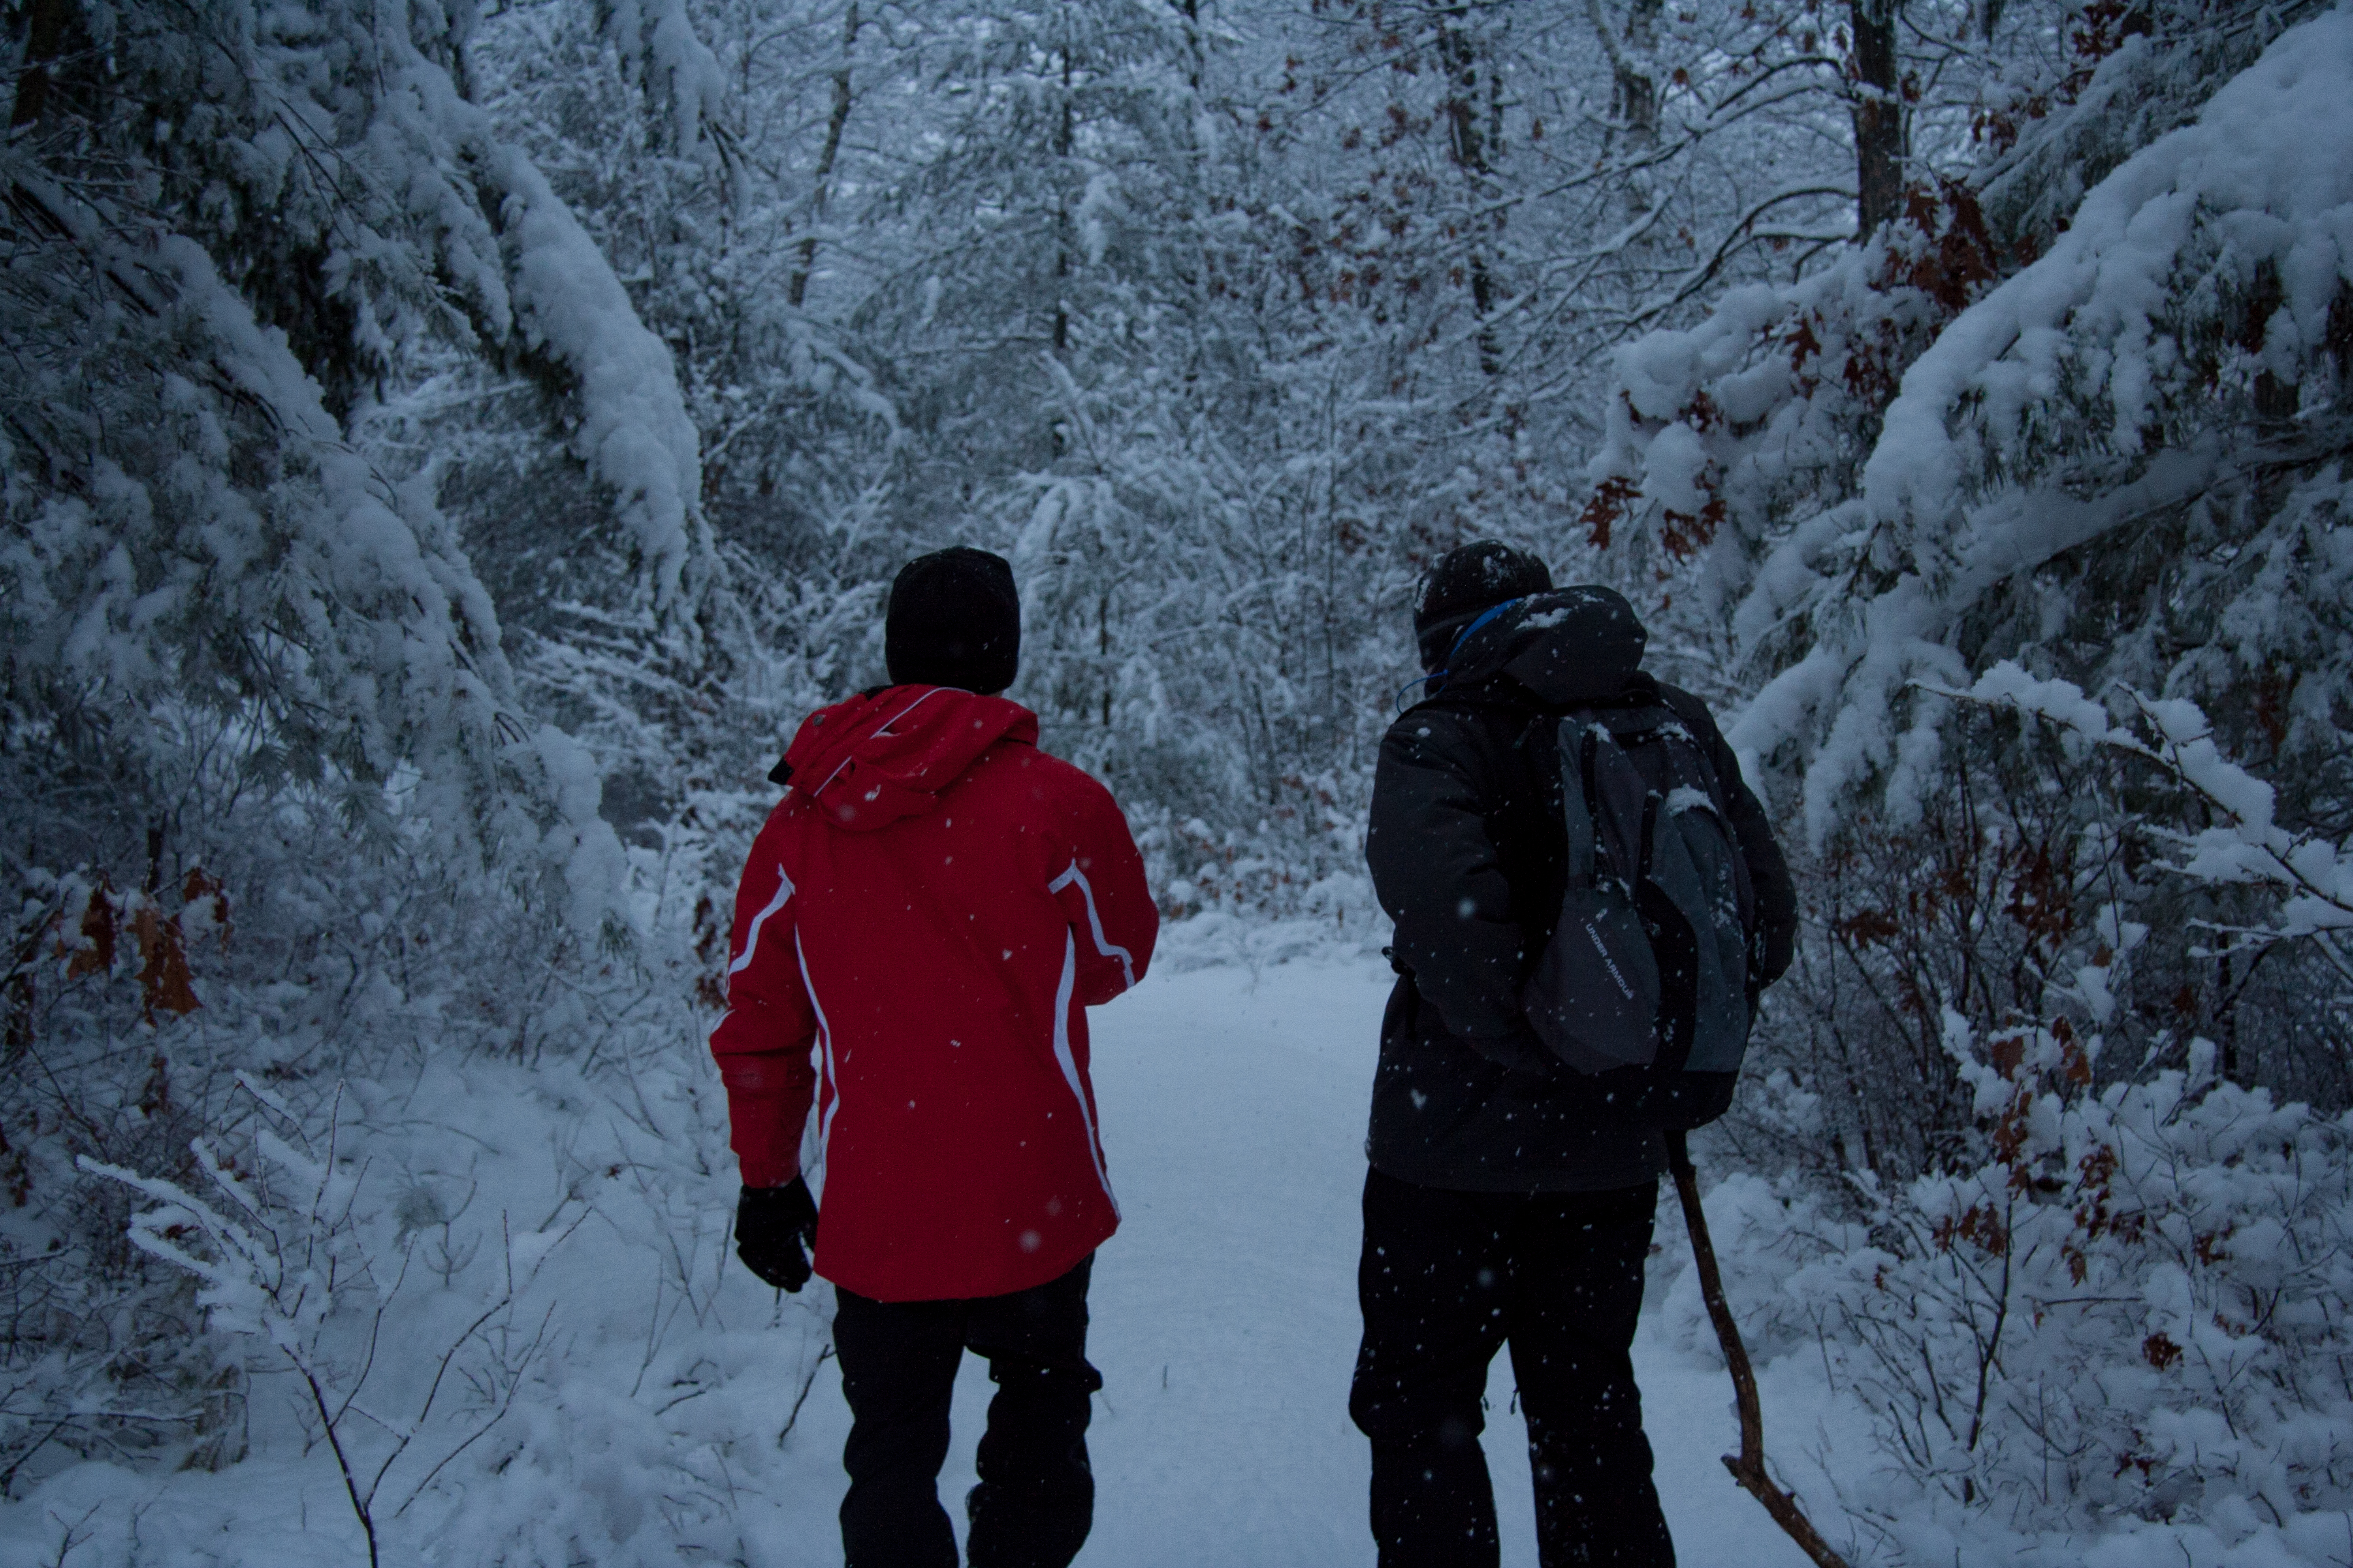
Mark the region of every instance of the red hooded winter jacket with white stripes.
<instances>
[{"instance_id":1,"label":"red hooded winter jacket with white stripes","mask_svg":"<svg viewBox=\"0 0 2353 1568\"><path fill-rule=\"evenodd\" d=\"M1120 1222L1085 1009L1144 976L1160 914L1111 792L1035 741L951 686L824 708L744 867L729 1143L748 1187L793 1180L814 1088L814 1262L859 1295L1024 1291Z\"/></svg>"}]
</instances>

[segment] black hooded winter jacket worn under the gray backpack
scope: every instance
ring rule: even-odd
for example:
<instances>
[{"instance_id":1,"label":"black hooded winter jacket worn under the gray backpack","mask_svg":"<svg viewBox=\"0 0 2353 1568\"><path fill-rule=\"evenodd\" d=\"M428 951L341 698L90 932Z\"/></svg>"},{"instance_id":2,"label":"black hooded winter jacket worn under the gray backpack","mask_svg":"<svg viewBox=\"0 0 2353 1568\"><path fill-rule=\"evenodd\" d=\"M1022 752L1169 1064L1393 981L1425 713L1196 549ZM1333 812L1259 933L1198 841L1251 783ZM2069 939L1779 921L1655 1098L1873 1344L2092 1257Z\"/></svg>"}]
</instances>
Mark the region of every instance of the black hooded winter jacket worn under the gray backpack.
<instances>
[{"instance_id":1,"label":"black hooded winter jacket worn under the gray backpack","mask_svg":"<svg viewBox=\"0 0 2353 1568\"><path fill-rule=\"evenodd\" d=\"M1567 877L1551 715L1666 703L1715 764L1758 905L1751 985L1788 969L1798 900L1772 825L1715 719L1640 672L1647 632L1607 588L1520 599L1449 661L1445 689L1381 741L1365 858L1398 924L1365 1152L1398 1180L1464 1192L1593 1192L1666 1168L1649 1126L1612 1117L1529 1032L1520 985Z\"/></svg>"}]
</instances>

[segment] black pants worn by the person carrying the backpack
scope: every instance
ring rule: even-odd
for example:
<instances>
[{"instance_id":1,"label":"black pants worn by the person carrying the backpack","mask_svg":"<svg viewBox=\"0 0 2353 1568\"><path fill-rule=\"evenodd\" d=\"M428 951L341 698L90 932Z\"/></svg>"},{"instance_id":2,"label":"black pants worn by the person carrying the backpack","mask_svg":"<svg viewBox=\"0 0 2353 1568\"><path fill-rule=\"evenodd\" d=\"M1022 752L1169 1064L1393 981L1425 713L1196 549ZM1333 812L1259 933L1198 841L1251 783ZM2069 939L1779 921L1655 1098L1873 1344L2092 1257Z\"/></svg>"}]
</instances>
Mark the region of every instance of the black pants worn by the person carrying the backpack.
<instances>
[{"instance_id":1,"label":"black pants worn by the person carrying the backpack","mask_svg":"<svg viewBox=\"0 0 2353 1568\"><path fill-rule=\"evenodd\" d=\"M1497 1561L1478 1434L1487 1363L1506 1340L1537 1559L1673 1568L1628 1354L1657 1201L1657 1182L1513 1194L1365 1178L1365 1345L1348 1413L1372 1439L1381 1568Z\"/></svg>"}]
</instances>

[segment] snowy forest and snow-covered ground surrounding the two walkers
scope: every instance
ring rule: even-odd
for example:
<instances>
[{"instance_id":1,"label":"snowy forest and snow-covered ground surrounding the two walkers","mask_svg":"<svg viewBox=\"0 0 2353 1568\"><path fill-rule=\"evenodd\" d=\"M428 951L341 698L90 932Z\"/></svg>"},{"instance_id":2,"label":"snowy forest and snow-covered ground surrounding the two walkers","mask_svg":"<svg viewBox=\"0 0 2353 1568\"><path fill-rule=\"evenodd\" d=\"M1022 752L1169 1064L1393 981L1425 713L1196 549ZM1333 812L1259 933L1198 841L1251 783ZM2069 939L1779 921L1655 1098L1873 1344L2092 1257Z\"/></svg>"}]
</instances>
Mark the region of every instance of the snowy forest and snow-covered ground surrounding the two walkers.
<instances>
[{"instance_id":1,"label":"snowy forest and snow-covered ground surrounding the two walkers","mask_svg":"<svg viewBox=\"0 0 2353 1568\"><path fill-rule=\"evenodd\" d=\"M2353 5L0 14L0 1566L840 1561L704 1037L953 543L1167 919L1087 1561L1369 1563L1365 806L1475 538L1798 872L1694 1150L1831 1544L2353 1554ZM1682 1561L1781 1561L1659 1241Z\"/></svg>"}]
</instances>

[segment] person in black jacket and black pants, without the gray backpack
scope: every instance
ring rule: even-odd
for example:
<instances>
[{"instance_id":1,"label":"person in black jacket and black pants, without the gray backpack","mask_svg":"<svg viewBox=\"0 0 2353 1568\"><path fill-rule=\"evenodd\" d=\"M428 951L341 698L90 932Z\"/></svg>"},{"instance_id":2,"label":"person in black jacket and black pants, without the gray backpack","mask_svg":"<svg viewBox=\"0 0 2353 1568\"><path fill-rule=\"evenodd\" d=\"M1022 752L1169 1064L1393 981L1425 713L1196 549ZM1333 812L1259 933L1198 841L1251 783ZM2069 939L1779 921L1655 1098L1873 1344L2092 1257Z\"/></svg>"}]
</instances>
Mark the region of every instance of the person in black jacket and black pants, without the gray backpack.
<instances>
[{"instance_id":1,"label":"person in black jacket and black pants, without the gray backpack","mask_svg":"<svg viewBox=\"0 0 2353 1568\"><path fill-rule=\"evenodd\" d=\"M1647 635L1621 595L1553 590L1544 562L1464 545L1424 583L1414 632L1435 693L1381 741L1365 842L1398 969L1348 1399L1372 1439L1379 1561L1497 1561L1478 1436L1508 1342L1541 1563L1671 1566L1631 1361L1666 1140L1612 1114L1520 1011L1567 877L1551 719L1664 703L1689 726L1755 889L1751 990L1788 969L1788 867L1706 705L1640 670Z\"/></svg>"}]
</instances>

